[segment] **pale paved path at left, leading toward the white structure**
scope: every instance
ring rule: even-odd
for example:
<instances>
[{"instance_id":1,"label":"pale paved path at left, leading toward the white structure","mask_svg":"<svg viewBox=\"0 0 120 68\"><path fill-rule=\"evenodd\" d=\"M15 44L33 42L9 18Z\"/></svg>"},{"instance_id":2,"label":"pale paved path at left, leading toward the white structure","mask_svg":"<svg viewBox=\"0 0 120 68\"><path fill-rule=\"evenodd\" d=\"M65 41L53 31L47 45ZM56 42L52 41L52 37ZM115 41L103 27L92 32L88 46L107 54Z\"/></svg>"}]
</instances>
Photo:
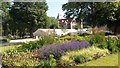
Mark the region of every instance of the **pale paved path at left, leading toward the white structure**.
<instances>
[{"instance_id":1,"label":"pale paved path at left, leading toward the white structure","mask_svg":"<svg viewBox=\"0 0 120 68\"><path fill-rule=\"evenodd\" d=\"M19 44L19 43L30 42L30 41L35 41L35 40L37 40L37 39L33 39L33 38L16 39L16 40L11 40L10 42L2 43L2 44L0 44L0 46L6 46L6 45L10 45L10 44Z\"/></svg>"}]
</instances>

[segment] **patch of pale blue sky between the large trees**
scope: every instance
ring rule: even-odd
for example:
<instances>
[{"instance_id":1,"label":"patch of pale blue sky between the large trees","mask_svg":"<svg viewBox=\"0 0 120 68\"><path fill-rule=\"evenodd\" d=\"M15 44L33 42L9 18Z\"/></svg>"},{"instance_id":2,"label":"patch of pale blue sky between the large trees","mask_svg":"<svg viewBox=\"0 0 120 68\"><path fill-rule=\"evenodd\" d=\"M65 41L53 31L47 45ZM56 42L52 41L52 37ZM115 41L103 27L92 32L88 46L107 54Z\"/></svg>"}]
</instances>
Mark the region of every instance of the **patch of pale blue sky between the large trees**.
<instances>
[{"instance_id":1,"label":"patch of pale blue sky between the large trees","mask_svg":"<svg viewBox=\"0 0 120 68\"><path fill-rule=\"evenodd\" d=\"M47 0L48 11L47 15L49 17L57 18L58 13L63 16L64 11L62 11L62 5L67 3L67 0Z\"/></svg>"}]
</instances>

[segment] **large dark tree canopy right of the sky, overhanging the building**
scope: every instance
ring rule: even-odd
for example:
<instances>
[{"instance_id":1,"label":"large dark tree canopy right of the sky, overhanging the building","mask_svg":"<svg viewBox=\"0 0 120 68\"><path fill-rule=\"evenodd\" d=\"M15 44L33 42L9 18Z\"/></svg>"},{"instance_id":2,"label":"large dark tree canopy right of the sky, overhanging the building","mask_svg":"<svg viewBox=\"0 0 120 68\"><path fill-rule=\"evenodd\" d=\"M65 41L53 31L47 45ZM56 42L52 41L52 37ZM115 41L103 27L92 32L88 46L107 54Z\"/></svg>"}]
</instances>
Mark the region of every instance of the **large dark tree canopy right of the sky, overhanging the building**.
<instances>
[{"instance_id":1,"label":"large dark tree canopy right of the sky, overhanging the building","mask_svg":"<svg viewBox=\"0 0 120 68\"><path fill-rule=\"evenodd\" d=\"M62 6L66 18L87 21L92 27L119 24L120 2L68 2Z\"/></svg>"}]
</instances>

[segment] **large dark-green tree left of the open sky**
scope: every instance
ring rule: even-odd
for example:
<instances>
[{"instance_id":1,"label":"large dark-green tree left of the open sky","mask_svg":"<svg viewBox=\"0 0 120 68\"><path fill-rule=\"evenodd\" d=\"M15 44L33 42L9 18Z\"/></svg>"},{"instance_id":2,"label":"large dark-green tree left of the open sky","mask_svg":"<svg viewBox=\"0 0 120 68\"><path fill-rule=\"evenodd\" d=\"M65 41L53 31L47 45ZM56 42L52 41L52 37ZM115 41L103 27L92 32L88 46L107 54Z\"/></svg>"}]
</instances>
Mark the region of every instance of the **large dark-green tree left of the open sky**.
<instances>
[{"instance_id":1,"label":"large dark-green tree left of the open sky","mask_svg":"<svg viewBox=\"0 0 120 68\"><path fill-rule=\"evenodd\" d=\"M45 2L14 2L9 12L16 25L14 28L20 32L19 35L24 36L26 29L32 37L37 28L46 27L47 9Z\"/></svg>"}]
</instances>

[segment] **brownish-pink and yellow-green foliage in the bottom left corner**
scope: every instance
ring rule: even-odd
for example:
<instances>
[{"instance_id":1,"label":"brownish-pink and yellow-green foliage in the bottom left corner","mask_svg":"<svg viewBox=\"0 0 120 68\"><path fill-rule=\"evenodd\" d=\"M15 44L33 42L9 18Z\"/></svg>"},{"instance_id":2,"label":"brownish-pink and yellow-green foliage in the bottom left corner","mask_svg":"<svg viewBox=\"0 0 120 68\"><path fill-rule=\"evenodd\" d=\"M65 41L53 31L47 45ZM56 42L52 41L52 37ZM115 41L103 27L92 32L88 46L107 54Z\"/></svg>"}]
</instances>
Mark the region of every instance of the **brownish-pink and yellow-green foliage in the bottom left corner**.
<instances>
[{"instance_id":1,"label":"brownish-pink and yellow-green foliage in the bottom left corner","mask_svg":"<svg viewBox=\"0 0 120 68\"><path fill-rule=\"evenodd\" d=\"M16 49L4 52L2 66L38 66L38 51L18 52Z\"/></svg>"}]
</instances>

